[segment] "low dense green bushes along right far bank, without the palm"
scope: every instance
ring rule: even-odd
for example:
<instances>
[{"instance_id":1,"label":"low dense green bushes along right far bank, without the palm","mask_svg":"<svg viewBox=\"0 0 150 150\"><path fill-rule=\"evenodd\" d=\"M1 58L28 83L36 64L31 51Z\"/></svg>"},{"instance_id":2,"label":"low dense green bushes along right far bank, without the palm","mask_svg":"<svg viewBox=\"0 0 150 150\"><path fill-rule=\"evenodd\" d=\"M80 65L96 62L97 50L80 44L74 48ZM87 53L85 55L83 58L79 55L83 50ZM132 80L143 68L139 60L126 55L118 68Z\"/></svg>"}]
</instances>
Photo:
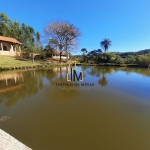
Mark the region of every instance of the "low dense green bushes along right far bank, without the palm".
<instances>
[{"instance_id":1,"label":"low dense green bushes along right far bank, without the palm","mask_svg":"<svg viewBox=\"0 0 150 150\"><path fill-rule=\"evenodd\" d=\"M113 64L139 64L139 65L149 65L150 64L150 50L147 53L144 53L145 50L134 53L116 53L109 52L100 54L94 53L98 50L93 50L88 54L75 56L78 61L81 63L91 63L91 64L100 64L100 63L113 63Z\"/></svg>"}]
</instances>

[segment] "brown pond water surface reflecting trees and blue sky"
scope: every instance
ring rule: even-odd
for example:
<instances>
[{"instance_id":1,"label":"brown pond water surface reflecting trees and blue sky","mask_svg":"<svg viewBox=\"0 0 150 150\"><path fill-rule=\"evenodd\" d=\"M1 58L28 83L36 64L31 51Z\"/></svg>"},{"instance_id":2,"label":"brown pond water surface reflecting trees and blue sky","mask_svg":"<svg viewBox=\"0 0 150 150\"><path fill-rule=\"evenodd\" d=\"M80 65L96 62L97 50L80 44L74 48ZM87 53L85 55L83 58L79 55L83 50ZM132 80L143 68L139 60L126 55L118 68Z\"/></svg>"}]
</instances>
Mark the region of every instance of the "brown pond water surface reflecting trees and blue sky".
<instances>
[{"instance_id":1,"label":"brown pond water surface reflecting trees and blue sky","mask_svg":"<svg viewBox=\"0 0 150 150\"><path fill-rule=\"evenodd\" d=\"M77 69L80 86L56 86L66 67L0 73L0 128L33 150L150 150L150 70Z\"/></svg>"}]
</instances>

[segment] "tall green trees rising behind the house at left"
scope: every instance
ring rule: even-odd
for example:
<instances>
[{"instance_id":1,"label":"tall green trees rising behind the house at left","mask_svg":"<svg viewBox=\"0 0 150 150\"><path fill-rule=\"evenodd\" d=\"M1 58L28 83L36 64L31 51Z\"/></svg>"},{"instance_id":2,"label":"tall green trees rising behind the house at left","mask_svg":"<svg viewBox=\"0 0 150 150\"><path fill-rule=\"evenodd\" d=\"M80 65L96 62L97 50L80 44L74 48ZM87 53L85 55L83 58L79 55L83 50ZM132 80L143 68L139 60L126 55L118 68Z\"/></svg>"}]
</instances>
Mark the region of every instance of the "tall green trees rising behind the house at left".
<instances>
[{"instance_id":1,"label":"tall green trees rising behind the house at left","mask_svg":"<svg viewBox=\"0 0 150 150\"><path fill-rule=\"evenodd\" d=\"M21 49L30 51L41 46L40 33L25 23L12 21L5 13L0 14L0 36L12 37L22 43Z\"/></svg>"}]
</instances>

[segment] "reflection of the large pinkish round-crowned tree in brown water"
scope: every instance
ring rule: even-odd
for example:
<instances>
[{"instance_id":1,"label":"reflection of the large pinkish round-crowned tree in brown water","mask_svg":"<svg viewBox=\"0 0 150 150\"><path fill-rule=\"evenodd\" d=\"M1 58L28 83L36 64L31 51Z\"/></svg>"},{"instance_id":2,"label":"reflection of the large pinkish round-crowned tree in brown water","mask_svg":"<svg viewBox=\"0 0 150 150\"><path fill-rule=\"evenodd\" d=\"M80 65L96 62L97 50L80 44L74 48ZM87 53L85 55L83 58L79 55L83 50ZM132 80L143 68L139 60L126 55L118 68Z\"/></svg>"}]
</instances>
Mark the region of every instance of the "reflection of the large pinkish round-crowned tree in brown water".
<instances>
[{"instance_id":1,"label":"reflection of the large pinkish round-crowned tree in brown water","mask_svg":"<svg viewBox=\"0 0 150 150\"><path fill-rule=\"evenodd\" d=\"M55 71L53 68L49 70L46 78L49 80L52 87L47 87L45 90L46 97L49 100L65 102L71 101L79 95L80 91L72 86L56 86L57 83L67 83L67 70L68 67L60 67Z\"/></svg>"}]
</instances>

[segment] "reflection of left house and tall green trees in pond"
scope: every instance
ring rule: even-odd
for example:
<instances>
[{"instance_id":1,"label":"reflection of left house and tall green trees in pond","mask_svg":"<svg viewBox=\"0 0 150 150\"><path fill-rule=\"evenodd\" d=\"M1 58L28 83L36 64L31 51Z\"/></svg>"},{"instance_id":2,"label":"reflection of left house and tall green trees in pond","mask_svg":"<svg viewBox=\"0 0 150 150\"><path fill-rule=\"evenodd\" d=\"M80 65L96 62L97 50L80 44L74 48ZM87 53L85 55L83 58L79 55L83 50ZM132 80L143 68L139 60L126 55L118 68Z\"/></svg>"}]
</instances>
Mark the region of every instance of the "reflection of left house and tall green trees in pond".
<instances>
[{"instance_id":1,"label":"reflection of left house and tall green trees in pond","mask_svg":"<svg viewBox=\"0 0 150 150\"><path fill-rule=\"evenodd\" d=\"M36 94L43 87L41 71L6 72L0 74L0 77L0 104L4 103L6 107Z\"/></svg>"}]
</instances>

